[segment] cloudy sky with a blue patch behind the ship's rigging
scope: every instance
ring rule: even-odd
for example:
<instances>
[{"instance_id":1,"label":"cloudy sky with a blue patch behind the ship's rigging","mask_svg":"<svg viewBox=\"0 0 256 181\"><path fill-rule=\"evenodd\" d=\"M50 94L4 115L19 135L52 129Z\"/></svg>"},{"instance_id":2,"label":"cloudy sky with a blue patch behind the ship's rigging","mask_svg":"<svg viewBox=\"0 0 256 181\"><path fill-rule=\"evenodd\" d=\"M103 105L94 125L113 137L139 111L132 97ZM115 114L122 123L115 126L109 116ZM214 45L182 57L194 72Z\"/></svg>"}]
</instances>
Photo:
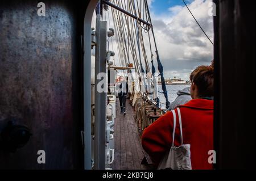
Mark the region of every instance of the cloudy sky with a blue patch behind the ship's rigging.
<instances>
[{"instance_id":1,"label":"cloudy sky with a blue patch behind the ship's rigging","mask_svg":"<svg viewBox=\"0 0 256 181\"><path fill-rule=\"evenodd\" d=\"M208 15L209 3L212 1L186 0L185 2L213 41L213 17ZM213 45L196 24L182 0L148 0L148 4L160 60L164 67L164 78L178 77L188 80L189 74L196 66L210 64L213 59ZM110 20L110 27L112 23ZM146 51L150 54L146 38L145 44ZM117 54L115 42L113 49ZM157 68L156 56L154 61ZM118 62L116 55L115 64L118 65Z\"/></svg>"}]
</instances>

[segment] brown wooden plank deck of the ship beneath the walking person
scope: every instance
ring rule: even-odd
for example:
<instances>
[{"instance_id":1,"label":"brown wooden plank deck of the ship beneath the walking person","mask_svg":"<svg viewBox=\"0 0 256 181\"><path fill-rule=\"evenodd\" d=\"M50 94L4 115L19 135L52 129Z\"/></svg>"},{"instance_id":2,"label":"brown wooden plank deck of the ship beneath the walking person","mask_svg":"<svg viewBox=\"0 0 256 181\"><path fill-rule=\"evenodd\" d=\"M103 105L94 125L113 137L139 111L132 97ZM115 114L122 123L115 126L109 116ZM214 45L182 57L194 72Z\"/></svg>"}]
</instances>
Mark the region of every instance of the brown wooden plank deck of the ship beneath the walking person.
<instances>
[{"instance_id":1,"label":"brown wooden plank deck of the ship beneath the walking person","mask_svg":"<svg viewBox=\"0 0 256 181\"><path fill-rule=\"evenodd\" d=\"M115 159L114 170L149 170L152 165L142 165L145 154L141 146L141 137L134 120L134 110L129 100L126 101L126 115L120 112L117 99L116 118L114 125Z\"/></svg>"}]
</instances>

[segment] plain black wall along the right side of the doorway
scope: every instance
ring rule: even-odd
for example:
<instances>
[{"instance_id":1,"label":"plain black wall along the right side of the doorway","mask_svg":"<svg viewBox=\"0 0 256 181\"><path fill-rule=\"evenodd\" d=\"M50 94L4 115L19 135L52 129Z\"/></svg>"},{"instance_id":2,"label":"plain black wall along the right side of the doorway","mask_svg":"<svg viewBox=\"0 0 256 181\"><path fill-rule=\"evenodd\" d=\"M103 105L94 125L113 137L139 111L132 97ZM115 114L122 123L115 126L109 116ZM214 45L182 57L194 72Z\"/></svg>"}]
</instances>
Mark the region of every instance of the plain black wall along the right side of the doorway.
<instances>
[{"instance_id":1,"label":"plain black wall along the right side of the doorway","mask_svg":"<svg viewBox=\"0 0 256 181\"><path fill-rule=\"evenodd\" d=\"M255 169L255 1L214 1L217 169Z\"/></svg>"}]
</instances>

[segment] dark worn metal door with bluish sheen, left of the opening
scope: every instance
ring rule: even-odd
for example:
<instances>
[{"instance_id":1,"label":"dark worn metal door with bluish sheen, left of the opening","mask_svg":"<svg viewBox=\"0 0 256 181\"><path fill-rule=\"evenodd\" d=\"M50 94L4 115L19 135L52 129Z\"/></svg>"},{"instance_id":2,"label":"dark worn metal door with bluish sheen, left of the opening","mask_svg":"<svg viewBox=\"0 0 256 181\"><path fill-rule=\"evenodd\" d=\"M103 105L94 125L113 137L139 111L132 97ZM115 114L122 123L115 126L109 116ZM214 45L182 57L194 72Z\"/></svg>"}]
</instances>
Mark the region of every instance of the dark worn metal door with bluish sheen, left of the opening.
<instances>
[{"instance_id":1,"label":"dark worn metal door with bluish sheen, left of the opening","mask_svg":"<svg viewBox=\"0 0 256 181\"><path fill-rule=\"evenodd\" d=\"M4 120L31 130L28 144L7 153L0 169L82 169L82 53L88 2L0 2L0 131ZM90 115L89 115L90 116ZM38 150L46 164L38 164Z\"/></svg>"}]
</instances>

